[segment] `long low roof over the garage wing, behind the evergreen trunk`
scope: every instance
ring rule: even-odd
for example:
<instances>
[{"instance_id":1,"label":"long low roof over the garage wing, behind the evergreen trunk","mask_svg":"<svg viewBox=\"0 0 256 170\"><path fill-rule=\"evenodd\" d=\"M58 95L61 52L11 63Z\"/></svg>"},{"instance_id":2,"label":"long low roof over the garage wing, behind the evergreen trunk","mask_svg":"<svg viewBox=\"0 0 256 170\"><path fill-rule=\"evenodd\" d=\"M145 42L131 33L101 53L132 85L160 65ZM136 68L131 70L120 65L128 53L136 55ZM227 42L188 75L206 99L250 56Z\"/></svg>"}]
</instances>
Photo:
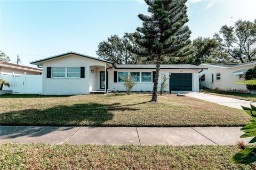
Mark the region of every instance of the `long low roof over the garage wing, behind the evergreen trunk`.
<instances>
[{"instance_id":1,"label":"long low roof over the garage wing, behind the evergreen trunk","mask_svg":"<svg viewBox=\"0 0 256 170\"><path fill-rule=\"evenodd\" d=\"M117 69L155 69L156 64L116 64ZM161 64L160 69L207 69L192 64Z\"/></svg>"}]
</instances>

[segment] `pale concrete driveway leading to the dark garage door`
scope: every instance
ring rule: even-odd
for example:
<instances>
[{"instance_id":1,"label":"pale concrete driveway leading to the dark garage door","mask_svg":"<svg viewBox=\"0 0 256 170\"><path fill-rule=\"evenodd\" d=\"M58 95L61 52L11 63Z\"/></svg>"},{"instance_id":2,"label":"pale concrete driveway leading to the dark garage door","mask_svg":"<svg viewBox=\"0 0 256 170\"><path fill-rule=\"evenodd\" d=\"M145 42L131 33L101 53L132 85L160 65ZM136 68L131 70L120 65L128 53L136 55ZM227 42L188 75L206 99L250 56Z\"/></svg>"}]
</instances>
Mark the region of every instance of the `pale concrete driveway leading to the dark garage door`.
<instances>
[{"instance_id":1,"label":"pale concrete driveway leading to the dark garage door","mask_svg":"<svg viewBox=\"0 0 256 170\"><path fill-rule=\"evenodd\" d=\"M241 105L245 107L250 107L250 103L256 106L255 102L233 99L233 98L226 98L218 95L211 95L211 94L198 93L198 92L179 92L179 93L185 96L189 96L191 98L201 99L201 100L217 103L223 106L228 106L236 109L242 109Z\"/></svg>"}]
</instances>

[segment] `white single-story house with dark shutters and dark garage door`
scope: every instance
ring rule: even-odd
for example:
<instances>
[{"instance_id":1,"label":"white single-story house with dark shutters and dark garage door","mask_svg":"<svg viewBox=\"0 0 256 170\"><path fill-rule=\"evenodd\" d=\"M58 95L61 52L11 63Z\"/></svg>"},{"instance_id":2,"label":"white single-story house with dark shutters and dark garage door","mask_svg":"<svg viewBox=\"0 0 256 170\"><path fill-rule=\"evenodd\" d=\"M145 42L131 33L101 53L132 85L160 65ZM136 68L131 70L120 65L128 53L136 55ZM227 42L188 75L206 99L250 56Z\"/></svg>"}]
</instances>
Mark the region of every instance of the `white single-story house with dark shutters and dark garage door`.
<instances>
[{"instance_id":1,"label":"white single-story house with dark shutters and dark garage door","mask_svg":"<svg viewBox=\"0 0 256 170\"><path fill-rule=\"evenodd\" d=\"M68 52L31 62L43 67L42 94L89 94L95 91L125 91L123 78L132 74L133 91L152 91L154 64L123 64L101 60L89 55ZM170 76L165 91L199 91L199 72L191 64L162 65L159 75ZM107 81L105 81L107 79ZM159 76L161 82L161 76Z\"/></svg>"}]
</instances>

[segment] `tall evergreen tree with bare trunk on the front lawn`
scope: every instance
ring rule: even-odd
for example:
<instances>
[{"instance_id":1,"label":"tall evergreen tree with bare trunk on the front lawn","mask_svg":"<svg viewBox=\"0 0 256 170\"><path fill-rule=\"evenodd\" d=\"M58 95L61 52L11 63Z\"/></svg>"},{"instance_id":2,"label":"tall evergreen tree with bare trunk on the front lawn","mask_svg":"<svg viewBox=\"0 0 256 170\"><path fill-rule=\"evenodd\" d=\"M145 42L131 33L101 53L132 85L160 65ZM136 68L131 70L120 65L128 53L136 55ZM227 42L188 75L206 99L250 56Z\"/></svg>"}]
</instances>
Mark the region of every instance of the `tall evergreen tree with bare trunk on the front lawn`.
<instances>
[{"instance_id":1,"label":"tall evergreen tree with bare trunk on the front lawn","mask_svg":"<svg viewBox=\"0 0 256 170\"><path fill-rule=\"evenodd\" d=\"M185 25L188 22L187 0L145 0L150 15L139 14L143 21L138 27L137 43L140 55L156 59L152 102L157 102L159 68L163 56L180 56L188 52L191 31Z\"/></svg>"}]
</instances>

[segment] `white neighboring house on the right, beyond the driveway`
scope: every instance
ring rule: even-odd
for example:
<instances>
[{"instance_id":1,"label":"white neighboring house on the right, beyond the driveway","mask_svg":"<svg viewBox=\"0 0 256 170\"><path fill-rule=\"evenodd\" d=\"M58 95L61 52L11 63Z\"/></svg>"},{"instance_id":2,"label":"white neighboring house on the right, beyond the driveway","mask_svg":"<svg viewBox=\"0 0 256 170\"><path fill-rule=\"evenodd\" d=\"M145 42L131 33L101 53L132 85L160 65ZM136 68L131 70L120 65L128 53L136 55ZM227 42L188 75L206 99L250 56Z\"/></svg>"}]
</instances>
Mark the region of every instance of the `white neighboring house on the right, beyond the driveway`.
<instances>
[{"instance_id":1,"label":"white neighboring house on the right, beyond the driveway","mask_svg":"<svg viewBox=\"0 0 256 170\"><path fill-rule=\"evenodd\" d=\"M202 88L246 91L246 85L233 82L244 80L246 71L254 66L256 61L241 64L201 64L199 67L207 70L199 74L199 85Z\"/></svg>"}]
</instances>

